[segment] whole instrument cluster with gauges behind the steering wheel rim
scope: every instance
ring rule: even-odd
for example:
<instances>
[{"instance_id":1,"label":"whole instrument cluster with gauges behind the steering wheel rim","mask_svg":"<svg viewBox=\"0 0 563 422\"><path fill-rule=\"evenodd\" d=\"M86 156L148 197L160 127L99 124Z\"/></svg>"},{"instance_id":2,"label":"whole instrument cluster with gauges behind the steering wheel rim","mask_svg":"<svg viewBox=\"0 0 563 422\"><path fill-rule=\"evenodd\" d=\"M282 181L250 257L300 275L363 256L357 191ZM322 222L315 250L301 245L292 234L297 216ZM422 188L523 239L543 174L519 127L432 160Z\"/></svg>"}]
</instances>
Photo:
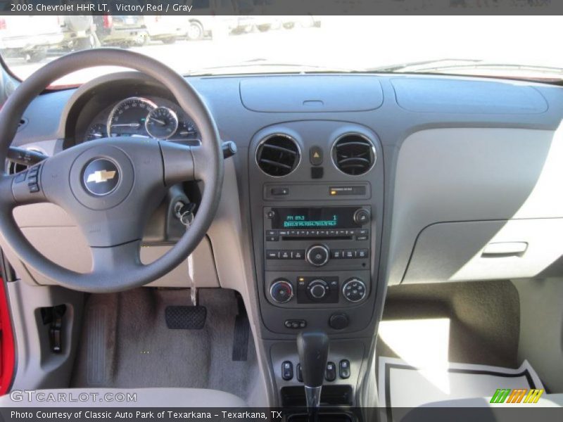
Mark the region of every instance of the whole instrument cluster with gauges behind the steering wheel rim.
<instances>
[{"instance_id":1,"label":"whole instrument cluster with gauges behind the steering wheel rim","mask_svg":"<svg viewBox=\"0 0 563 422\"><path fill-rule=\"evenodd\" d=\"M132 96L102 110L87 127L84 139L116 136L170 141L199 139L196 125L177 104L152 96Z\"/></svg>"}]
</instances>

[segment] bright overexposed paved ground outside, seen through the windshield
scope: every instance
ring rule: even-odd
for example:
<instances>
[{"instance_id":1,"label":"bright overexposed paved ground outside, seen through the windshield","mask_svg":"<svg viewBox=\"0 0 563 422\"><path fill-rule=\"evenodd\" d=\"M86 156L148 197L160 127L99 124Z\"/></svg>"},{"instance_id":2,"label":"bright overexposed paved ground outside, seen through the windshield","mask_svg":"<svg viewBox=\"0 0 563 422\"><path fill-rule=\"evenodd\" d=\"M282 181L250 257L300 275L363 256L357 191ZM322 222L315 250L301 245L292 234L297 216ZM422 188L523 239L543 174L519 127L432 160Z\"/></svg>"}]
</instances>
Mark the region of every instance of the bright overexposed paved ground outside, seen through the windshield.
<instances>
[{"instance_id":1,"label":"bright overexposed paved ground outside, seen through the windshield","mask_svg":"<svg viewBox=\"0 0 563 422\"><path fill-rule=\"evenodd\" d=\"M222 39L153 42L134 51L162 60L187 73L237 63L315 65L355 69L440 58L477 58L563 68L558 40L559 16L382 16L322 17L320 28L254 31ZM16 75L27 77L42 63L9 59ZM59 83L84 82L113 69L94 68ZM222 72L217 70L217 72Z\"/></svg>"}]
</instances>

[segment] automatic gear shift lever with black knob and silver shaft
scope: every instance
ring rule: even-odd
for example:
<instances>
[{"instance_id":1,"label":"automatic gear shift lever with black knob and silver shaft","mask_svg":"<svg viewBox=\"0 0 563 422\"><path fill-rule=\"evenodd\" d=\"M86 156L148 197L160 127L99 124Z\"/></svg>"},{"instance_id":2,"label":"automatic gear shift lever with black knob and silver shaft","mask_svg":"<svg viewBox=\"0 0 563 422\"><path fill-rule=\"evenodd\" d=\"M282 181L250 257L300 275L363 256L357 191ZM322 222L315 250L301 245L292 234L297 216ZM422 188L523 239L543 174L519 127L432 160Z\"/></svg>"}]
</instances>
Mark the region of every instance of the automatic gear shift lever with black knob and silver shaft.
<instances>
[{"instance_id":1,"label":"automatic gear shift lever with black knob and silver shaft","mask_svg":"<svg viewBox=\"0 0 563 422\"><path fill-rule=\"evenodd\" d=\"M320 406L322 381L329 357L329 336L322 332L297 335L297 351L301 362L307 407L315 411Z\"/></svg>"}]
</instances>

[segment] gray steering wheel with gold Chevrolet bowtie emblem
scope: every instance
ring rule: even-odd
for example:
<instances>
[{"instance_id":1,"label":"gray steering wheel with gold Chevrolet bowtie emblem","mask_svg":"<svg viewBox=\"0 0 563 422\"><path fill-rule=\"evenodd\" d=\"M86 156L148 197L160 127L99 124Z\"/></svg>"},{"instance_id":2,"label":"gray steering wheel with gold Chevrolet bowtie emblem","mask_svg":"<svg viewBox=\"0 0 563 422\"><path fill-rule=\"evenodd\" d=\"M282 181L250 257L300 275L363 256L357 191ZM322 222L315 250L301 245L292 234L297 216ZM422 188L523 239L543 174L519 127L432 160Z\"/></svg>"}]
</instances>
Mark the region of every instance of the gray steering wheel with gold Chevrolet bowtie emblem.
<instances>
[{"instance_id":1,"label":"gray steering wheel with gold Chevrolet bowtie emblem","mask_svg":"<svg viewBox=\"0 0 563 422\"><path fill-rule=\"evenodd\" d=\"M150 283L179 265L207 232L219 204L223 155L217 127L188 82L163 63L132 51L96 49L63 56L20 84L0 110L0 162L31 101L70 72L115 65L153 77L175 96L201 133L201 146L154 139L108 138L80 143L30 167L0 174L0 235L27 266L55 283L91 293ZM143 229L167 189L181 181L203 181L203 195L189 230L163 257L142 264ZM91 250L87 274L65 269L27 241L13 217L18 205L49 202L63 207L80 226Z\"/></svg>"}]
</instances>

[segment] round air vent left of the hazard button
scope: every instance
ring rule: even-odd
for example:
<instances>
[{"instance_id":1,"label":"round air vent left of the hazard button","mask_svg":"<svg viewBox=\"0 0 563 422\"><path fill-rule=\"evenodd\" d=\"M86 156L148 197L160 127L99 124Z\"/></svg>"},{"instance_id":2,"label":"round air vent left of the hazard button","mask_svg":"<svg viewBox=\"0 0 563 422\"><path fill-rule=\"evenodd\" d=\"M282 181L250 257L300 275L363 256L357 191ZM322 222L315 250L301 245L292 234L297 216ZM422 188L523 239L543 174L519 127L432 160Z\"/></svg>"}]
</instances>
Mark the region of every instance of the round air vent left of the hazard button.
<instances>
[{"instance_id":1,"label":"round air vent left of the hazard button","mask_svg":"<svg viewBox=\"0 0 563 422\"><path fill-rule=\"evenodd\" d=\"M256 151L256 163L262 172L273 177L287 176L301 160L301 151L289 135L275 134L262 139Z\"/></svg>"}]
</instances>

